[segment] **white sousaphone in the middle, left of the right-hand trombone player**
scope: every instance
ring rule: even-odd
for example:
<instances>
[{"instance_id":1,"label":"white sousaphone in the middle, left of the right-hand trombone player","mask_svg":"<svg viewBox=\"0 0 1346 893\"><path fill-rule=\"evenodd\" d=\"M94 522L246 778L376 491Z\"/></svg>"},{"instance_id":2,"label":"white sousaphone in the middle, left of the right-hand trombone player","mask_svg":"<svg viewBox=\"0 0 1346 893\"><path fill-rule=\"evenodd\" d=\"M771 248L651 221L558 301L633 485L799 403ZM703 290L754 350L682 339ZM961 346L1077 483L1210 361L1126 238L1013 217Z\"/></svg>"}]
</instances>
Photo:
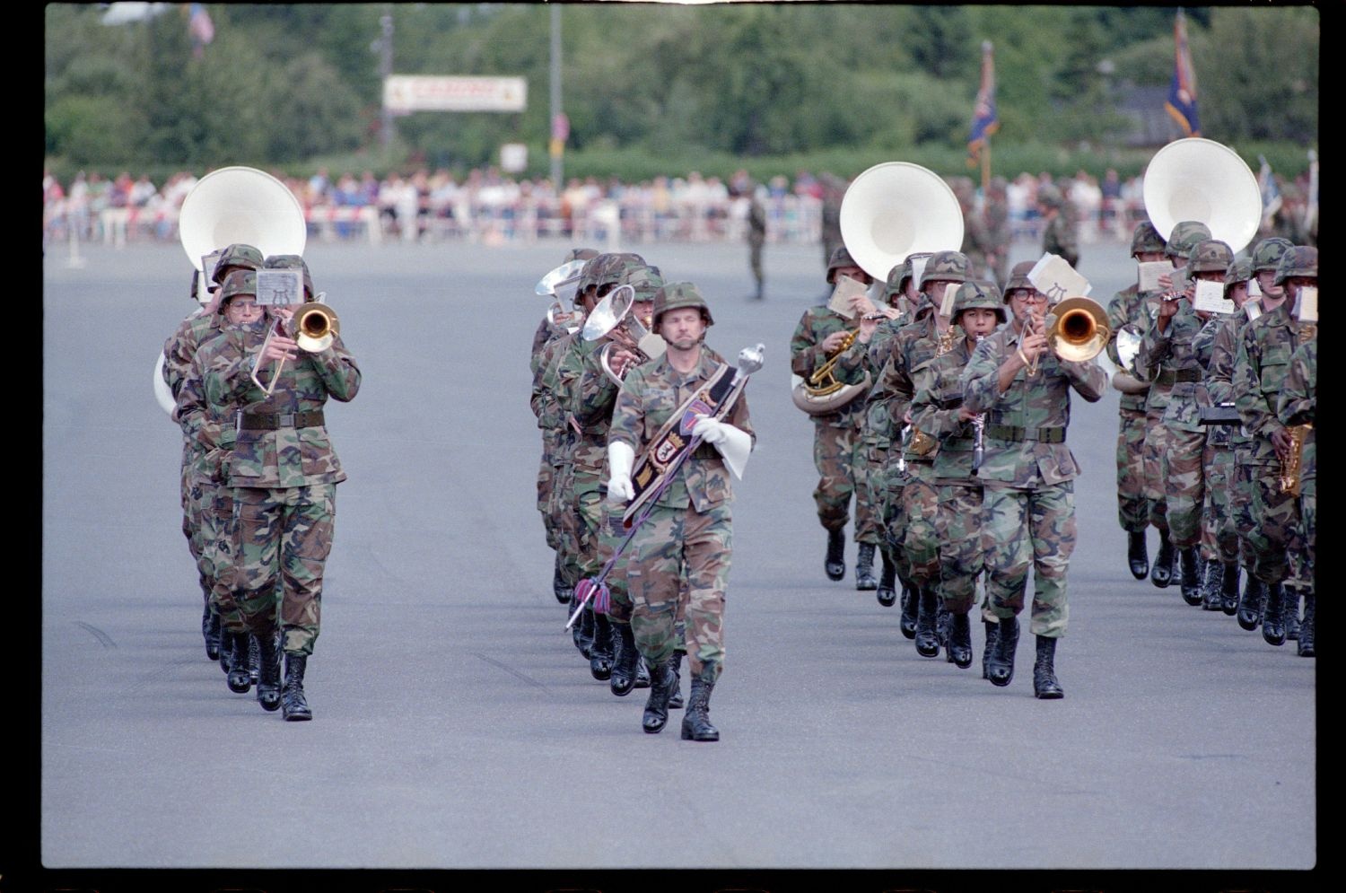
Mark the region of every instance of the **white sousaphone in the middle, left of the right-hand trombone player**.
<instances>
[{"instance_id":1,"label":"white sousaphone in the middle, left of the right-hand trombone player","mask_svg":"<svg viewBox=\"0 0 1346 893\"><path fill-rule=\"evenodd\" d=\"M856 176L841 199L840 224L851 257L878 283L909 255L962 248L958 197L942 176L911 162L884 162ZM871 384L868 373L848 385L793 376L791 397L809 415L822 415L867 393Z\"/></svg>"}]
</instances>

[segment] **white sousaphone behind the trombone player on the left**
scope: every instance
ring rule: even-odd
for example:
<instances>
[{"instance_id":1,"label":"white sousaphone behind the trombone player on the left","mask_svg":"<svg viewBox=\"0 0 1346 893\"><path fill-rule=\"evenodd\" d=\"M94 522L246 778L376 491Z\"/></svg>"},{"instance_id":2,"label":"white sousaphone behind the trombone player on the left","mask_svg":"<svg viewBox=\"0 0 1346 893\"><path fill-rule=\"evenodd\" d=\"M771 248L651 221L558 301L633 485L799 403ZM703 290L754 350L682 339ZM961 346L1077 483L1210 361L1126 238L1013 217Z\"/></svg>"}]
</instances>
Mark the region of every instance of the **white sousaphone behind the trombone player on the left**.
<instances>
[{"instance_id":1,"label":"white sousaphone behind the trombone player on the left","mask_svg":"<svg viewBox=\"0 0 1346 893\"><path fill-rule=\"evenodd\" d=\"M279 179L254 167L221 167L187 193L178 213L178 238L198 273L205 295L210 272L202 259L234 242L253 245L264 257L303 255L308 240L304 209ZM205 303L205 302L203 302ZM172 414L174 397L163 377L166 358L155 360L155 399Z\"/></svg>"}]
</instances>

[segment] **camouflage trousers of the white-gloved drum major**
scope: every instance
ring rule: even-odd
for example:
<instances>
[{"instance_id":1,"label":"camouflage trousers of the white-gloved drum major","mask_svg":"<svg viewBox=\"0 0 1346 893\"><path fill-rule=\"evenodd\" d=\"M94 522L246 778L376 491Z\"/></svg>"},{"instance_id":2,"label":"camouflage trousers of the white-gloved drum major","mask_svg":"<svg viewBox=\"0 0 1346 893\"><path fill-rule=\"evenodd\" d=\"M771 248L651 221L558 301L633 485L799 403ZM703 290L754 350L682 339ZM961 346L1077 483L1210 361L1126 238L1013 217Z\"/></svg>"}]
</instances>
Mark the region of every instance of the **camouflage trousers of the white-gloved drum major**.
<instances>
[{"instance_id":1,"label":"camouflage trousers of the white-gloved drum major","mask_svg":"<svg viewBox=\"0 0 1346 893\"><path fill-rule=\"evenodd\" d=\"M626 583L634 605L631 633L647 664L686 648L693 676L711 683L724 668L724 591L734 545L725 500L701 513L693 505L656 505L631 540ZM685 595L684 593L685 578ZM677 632L685 598L685 632Z\"/></svg>"}]
</instances>

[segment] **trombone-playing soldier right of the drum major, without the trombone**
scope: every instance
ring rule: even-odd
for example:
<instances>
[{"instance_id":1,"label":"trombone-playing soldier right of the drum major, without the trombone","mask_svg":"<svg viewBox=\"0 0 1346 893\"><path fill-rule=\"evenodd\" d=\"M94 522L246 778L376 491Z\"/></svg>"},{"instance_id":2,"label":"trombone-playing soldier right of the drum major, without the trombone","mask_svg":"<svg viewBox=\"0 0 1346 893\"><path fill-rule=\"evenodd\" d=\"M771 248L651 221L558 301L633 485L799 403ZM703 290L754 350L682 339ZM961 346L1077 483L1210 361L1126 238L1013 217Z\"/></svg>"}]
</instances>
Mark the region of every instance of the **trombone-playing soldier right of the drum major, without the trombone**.
<instances>
[{"instance_id":1,"label":"trombone-playing soldier right of the drum major, without the trombone","mask_svg":"<svg viewBox=\"0 0 1346 893\"><path fill-rule=\"evenodd\" d=\"M1067 621L1066 572L1075 545L1074 479L1079 466L1066 446L1070 389L1094 403L1108 384L1096 360L1066 361L1047 348L1047 296L1011 275L1014 321L985 338L962 372L962 405L985 412L981 547L989 610L999 618L987 661L993 686L1014 679L1019 613L1032 567L1036 698L1063 696L1055 675L1057 638Z\"/></svg>"}]
</instances>

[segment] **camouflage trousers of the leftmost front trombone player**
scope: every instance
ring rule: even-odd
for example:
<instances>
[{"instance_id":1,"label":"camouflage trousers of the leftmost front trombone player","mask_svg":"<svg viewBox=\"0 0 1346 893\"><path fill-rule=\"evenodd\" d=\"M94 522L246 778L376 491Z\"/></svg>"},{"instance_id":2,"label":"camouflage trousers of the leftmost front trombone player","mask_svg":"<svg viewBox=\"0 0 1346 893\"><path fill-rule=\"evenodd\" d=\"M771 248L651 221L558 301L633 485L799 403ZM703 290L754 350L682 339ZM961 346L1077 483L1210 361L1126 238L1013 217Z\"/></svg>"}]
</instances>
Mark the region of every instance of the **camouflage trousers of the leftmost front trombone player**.
<instances>
[{"instance_id":1,"label":"camouflage trousers of the leftmost front trombone player","mask_svg":"<svg viewBox=\"0 0 1346 893\"><path fill-rule=\"evenodd\" d=\"M276 628L284 651L314 653L323 593L323 567L332 547L336 485L234 488L232 535L234 598L258 637Z\"/></svg>"}]
</instances>

